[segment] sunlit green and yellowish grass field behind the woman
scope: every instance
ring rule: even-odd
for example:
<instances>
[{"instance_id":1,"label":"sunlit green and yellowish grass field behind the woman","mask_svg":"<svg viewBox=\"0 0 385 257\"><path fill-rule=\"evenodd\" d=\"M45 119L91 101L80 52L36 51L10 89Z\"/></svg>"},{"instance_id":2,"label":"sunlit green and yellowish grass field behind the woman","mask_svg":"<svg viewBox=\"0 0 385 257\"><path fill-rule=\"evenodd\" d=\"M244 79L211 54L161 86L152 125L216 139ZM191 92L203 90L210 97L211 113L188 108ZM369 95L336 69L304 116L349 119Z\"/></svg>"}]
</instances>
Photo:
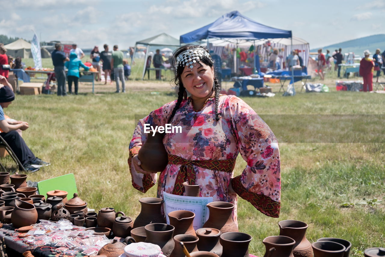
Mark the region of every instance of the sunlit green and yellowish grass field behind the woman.
<instances>
[{"instance_id":1,"label":"sunlit green and yellowish grass field behind the woman","mask_svg":"<svg viewBox=\"0 0 385 257\"><path fill-rule=\"evenodd\" d=\"M273 84L273 98L243 98L278 138L282 175L280 218L264 216L239 200L239 229L253 236L250 253L263 256L263 238L278 235L277 223L286 219L308 223L310 242L320 237L349 240L353 257L363 256L365 248L383 246L385 95L337 92L333 73L326 78L330 93L300 93L298 84L296 96L283 97ZM156 186L146 194L131 186L127 157L137 123L134 115L147 114L175 96L167 81L128 81L127 87L126 94L114 94L115 85L97 83L92 95L90 84L82 83L78 96L17 95L5 113L30 124L23 132L25 141L38 157L52 163L28 179L72 172L89 208L112 207L135 218L138 200L156 196ZM158 93L151 94L154 91ZM361 118L352 122L349 115ZM9 157L5 163L13 165ZM235 175L245 164L238 157Z\"/></svg>"}]
</instances>

